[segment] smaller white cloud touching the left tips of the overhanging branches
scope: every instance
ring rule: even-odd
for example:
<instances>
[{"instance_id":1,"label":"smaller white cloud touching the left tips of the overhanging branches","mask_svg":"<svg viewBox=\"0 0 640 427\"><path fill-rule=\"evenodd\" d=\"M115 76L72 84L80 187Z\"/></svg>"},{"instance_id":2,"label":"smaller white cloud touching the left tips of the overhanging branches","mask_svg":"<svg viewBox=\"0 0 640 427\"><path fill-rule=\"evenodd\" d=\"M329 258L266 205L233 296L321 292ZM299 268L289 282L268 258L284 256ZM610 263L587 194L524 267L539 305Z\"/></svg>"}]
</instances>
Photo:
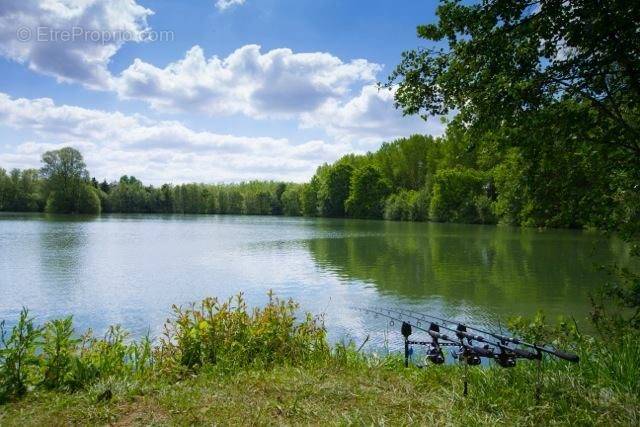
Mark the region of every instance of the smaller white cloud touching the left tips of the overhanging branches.
<instances>
[{"instance_id":1,"label":"smaller white cloud touching the left tips of the overhanging branches","mask_svg":"<svg viewBox=\"0 0 640 427\"><path fill-rule=\"evenodd\" d=\"M328 100L313 113L301 117L302 127L322 128L339 141L358 142L363 147L415 133L442 135L444 125L436 118L425 122L416 116L403 116L393 105L395 89L362 88L346 101Z\"/></svg>"}]
</instances>

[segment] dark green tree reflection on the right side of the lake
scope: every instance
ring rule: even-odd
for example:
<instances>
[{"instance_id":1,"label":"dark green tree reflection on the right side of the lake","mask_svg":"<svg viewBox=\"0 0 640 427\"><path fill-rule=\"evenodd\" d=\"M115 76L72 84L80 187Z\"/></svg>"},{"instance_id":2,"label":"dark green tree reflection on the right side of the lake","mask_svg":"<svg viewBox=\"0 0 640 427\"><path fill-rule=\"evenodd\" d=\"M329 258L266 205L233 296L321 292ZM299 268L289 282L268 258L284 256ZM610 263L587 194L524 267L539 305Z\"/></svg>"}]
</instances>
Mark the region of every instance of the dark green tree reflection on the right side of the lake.
<instances>
[{"instance_id":1,"label":"dark green tree reflection on the right side of the lake","mask_svg":"<svg viewBox=\"0 0 640 427\"><path fill-rule=\"evenodd\" d=\"M441 298L500 317L583 319L589 293L610 280L597 266L628 264L620 241L597 233L511 227L327 221L307 242L315 262L344 280L371 283L404 302Z\"/></svg>"}]
</instances>

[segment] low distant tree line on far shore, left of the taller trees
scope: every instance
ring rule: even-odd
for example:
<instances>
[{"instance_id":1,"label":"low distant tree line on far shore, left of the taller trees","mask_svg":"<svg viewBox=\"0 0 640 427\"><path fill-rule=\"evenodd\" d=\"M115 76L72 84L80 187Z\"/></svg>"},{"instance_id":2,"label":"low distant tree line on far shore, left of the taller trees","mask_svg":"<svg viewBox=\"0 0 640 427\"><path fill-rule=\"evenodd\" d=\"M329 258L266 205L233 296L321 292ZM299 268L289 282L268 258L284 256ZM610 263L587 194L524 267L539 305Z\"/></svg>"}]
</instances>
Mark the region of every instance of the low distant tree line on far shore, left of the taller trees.
<instances>
[{"instance_id":1,"label":"low distant tree line on far shore, left of the taller trees","mask_svg":"<svg viewBox=\"0 0 640 427\"><path fill-rule=\"evenodd\" d=\"M98 182L79 151L49 151L43 167L0 168L0 211L48 213L199 213L300 215L299 184L250 181L237 184L144 185L134 176Z\"/></svg>"}]
</instances>

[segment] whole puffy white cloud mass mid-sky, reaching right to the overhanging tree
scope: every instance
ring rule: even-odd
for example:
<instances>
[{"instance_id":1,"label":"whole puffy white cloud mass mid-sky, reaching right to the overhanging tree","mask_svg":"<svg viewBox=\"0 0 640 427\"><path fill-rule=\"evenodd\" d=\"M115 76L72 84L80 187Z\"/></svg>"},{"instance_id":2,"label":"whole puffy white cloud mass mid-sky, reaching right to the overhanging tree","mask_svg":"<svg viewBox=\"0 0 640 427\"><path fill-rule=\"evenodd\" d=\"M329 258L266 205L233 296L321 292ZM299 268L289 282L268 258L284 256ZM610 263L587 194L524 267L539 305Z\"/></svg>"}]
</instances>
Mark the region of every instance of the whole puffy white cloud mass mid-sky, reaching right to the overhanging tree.
<instances>
[{"instance_id":1,"label":"whole puffy white cloud mass mid-sky, reaching right to the overhanging tree","mask_svg":"<svg viewBox=\"0 0 640 427\"><path fill-rule=\"evenodd\" d=\"M177 62L158 68L136 60L118 80L122 98L154 109L207 115L239 113L254 119L292 118L363 150L413 133L441 135L438 119L405 117L393 105L393 90L374 84L381 66L348 63L328 53L261 53L243 46L224 59L206 59L194 46ZM355 95L354 95L355 92Z\"/></svg>"}]
</instances>

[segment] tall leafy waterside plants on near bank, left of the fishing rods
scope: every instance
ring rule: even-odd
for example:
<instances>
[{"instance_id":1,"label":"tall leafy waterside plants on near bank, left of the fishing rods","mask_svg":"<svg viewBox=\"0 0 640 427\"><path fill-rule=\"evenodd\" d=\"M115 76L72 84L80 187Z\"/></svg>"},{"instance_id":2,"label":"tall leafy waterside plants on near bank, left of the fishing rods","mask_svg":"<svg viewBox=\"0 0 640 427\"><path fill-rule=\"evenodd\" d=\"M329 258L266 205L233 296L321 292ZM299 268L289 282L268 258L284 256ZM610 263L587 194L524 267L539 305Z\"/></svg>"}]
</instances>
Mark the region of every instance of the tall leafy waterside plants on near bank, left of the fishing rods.
<instances>
[{"instance_id":1,"label":"tall leafy waterside plants on near bank, left of the fishing rods","mask_svg":"<svg viewBox=\"0 0 640 427\"><path fill-rule=\"evenodd\" d=\"M229 371L326 359L330 348L321 319L308 313L298 319L298 309L272 293L254 309L242 294L174 306L157 346L149 336L132 340L118 325L100 338L91 330L78 335L72 317L36 326L23 309L11 331L0 323L0 402L36 387L75 391L100 379L181 377L207 365Z\"/></svg>"}]
</instances>

